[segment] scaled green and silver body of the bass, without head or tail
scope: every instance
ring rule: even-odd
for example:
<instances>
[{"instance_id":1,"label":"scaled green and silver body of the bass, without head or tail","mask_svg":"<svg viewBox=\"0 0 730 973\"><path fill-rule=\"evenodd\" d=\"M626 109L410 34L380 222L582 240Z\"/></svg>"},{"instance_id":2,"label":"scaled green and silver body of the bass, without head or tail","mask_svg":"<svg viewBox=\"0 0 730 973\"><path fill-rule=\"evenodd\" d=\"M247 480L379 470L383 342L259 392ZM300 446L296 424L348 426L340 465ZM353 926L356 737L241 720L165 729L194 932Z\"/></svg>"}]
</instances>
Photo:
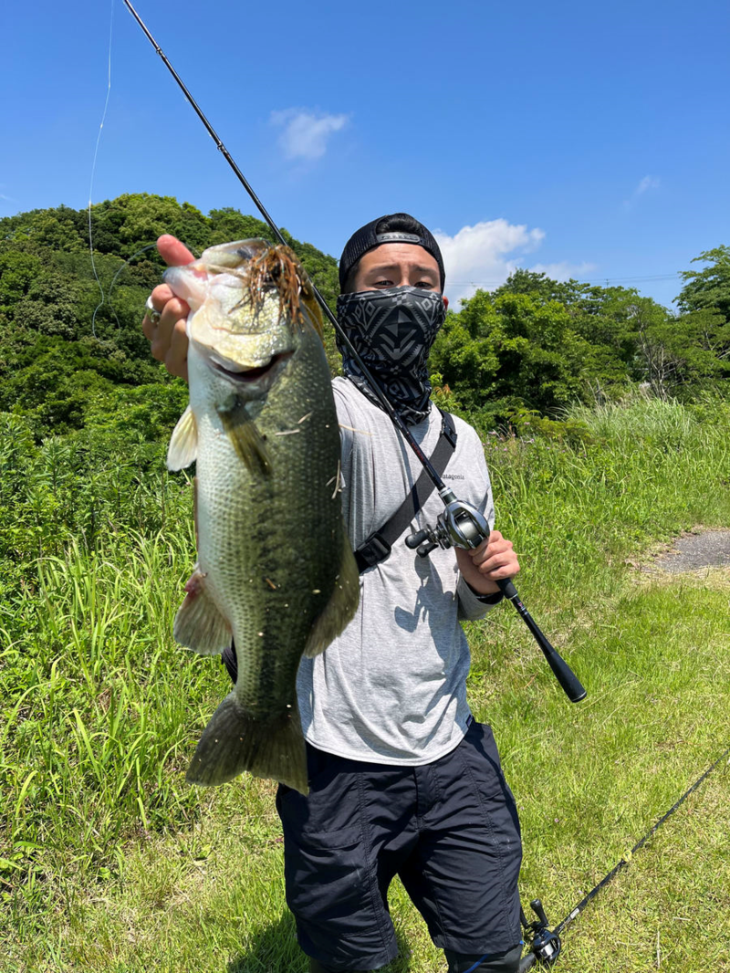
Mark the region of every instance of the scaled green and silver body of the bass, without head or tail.
<instances>
[{"instance_id":1,"label":"scaled green and silver body of the bass, without head or tail","mask_svg":"<svg viewBox=\"0 0 730 973\"><path fill-rule=\"evenodd\" d=\"M262 720L295 703L299 662L335 589L344 544L340 436L329 370L309 326L295 343L255 419L271 457L270 474L252 475L245 467L223 432L213 398L200 417L198 404L193 407L201 570L234 633L237 701ZM217 394L217 401L230 391L223 378L209 382L208 394Z\"/></svg>"}]
</instances>

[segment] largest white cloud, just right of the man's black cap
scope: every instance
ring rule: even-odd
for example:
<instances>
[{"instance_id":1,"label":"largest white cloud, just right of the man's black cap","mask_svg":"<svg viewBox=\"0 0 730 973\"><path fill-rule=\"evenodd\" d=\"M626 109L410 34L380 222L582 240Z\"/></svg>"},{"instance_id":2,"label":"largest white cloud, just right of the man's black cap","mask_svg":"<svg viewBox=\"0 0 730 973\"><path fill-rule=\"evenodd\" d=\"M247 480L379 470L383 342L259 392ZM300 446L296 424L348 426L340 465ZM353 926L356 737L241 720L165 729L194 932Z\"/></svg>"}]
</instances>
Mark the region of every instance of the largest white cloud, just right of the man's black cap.
<instances>
[{"instance_id":1,"label":"largest white cloud, just right of the man's black cap","mask_svg":"<svg viewBox=\"0 0 730 973\"><path fill-rule=\"evenodd\" d=\"M438 232L434 236L444 257L446 294L456 303L477 289L498 287L522 265L519 255L538 247L545 233L500 219L462 227L454 236Z\"/></svg>"}]
</instances>

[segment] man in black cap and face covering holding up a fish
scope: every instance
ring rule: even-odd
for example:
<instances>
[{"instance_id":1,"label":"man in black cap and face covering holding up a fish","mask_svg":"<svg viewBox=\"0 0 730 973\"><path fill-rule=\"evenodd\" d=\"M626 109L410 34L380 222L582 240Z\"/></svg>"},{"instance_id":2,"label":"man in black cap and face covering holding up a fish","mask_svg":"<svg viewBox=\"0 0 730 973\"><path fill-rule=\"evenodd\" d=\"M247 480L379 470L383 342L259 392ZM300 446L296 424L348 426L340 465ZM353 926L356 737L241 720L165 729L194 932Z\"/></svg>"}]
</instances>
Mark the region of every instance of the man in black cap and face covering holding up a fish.
<instances>
[{"instance_id":1,"label":"man in black cap and face covering holding up a fish","mask_svg":"<svg viewBox=\"0 0 730 973\"><path fill-rule=\"evenodd\" d=\"M192 256L164 236L170 264ZM442 434L429 402L427 357L448 301L436 240L396 213L362 227L340 262L338 319L426 455ZM165 285L143 328L152 352L186 377L187 307ZM342 431L343 513L353 549L387 522L420 475L351 353L333 391ZM444 474L493 525L492 492L475 431L455 417ZM460 619L484 616L496 581L520 569L492 530L476 551L403 543L443 509L434 491L362 574L347 630L304 659L297 692L310 795L279 786L287 902L311 973L379 969L397 954L387 887L397 874L444 950L450 973L515 973L520 831L489 726L466 703L469 651ZM235 660L229 660L229 666Z\"/></svg>"}]
</instances>

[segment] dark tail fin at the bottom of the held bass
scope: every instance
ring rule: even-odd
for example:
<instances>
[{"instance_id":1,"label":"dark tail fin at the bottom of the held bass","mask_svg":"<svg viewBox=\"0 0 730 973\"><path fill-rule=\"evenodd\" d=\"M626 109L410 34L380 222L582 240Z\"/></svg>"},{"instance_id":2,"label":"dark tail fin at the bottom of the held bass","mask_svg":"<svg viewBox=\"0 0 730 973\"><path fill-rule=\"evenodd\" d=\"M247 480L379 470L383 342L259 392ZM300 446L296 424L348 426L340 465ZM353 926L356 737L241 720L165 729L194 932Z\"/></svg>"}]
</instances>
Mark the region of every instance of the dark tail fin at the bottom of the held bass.
<instances>
[{"instance_id":1,"label":"dark tail fin at the bottom of the held bass","mask_svg":"<svg viewBox=\"0 0 730 973\"><path fill-rule=\"evenodd\" d=\"M243 771L309 793L307 751L296 698L273 720L252 716L230 693L210 718L190 762L188 783L211 787Z\"/></svg>"}]
</instances>

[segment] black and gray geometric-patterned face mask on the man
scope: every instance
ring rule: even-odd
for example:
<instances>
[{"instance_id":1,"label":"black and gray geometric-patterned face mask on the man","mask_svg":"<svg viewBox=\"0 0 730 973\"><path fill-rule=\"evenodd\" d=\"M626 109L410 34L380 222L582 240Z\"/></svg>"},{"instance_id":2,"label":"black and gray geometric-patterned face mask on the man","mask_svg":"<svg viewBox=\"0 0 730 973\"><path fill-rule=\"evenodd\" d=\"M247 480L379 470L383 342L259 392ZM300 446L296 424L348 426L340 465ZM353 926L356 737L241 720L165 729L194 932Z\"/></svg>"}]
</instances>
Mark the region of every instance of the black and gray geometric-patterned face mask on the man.
<instances>
[{"instance_id":1,"label":"black and gray geometric-patterned face mask on the man","mask_svg":"<svg viewBox=\"0 0 730 973\"><path fill-rule=\"evenodd\" d=\"M341 294L337 318L401 418L409 425L424 419L431 393L428 352L446 318L441 295L410 286ZM337 346L347 378L383 408L347 347L339 339Z\"/></svg>"}]
</instances>

